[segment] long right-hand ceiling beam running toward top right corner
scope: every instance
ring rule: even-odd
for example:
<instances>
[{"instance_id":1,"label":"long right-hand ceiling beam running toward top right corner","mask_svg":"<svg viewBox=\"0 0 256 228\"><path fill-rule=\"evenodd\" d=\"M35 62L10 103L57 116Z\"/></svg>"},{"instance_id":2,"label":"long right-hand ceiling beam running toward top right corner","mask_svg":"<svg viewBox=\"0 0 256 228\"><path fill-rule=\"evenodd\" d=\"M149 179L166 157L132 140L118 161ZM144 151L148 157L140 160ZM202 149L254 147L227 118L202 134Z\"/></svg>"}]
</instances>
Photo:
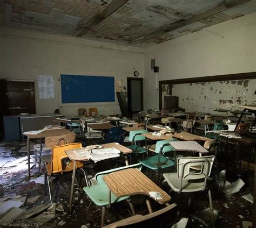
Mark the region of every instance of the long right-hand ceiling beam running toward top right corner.
<instances>
[{"instance_id":1,"label":"long right-hand ceiling beam running toward top right corner","mask_svg":"<svg viewBox=\"0 0 256 228\"><path fill-rule=\"evenodd\" d=\"M164 35L168 32L172 32L174 30L177 30L178 28L184 27L186 25L190 25L194 22L198 22L199 20L202 20L207 17L211 17L217 13L223 12L227 9L233 8L234 6L238 6L241 4L244 4L246 2L250 2L251 0L230 0L230 1L224 1L223 3L220 3L219 5L215 6L214 8L207 10L203 13L199 13L198 15L195 15L191 18L180 20L179 22L170 24L167 26L164 30L160 29L152 33L145 34L144 36L139 36L134 38L133 40L129 41L130 44L140 44L143 41L158 37L159 35Z\"/></svg>"}]
</instances>

